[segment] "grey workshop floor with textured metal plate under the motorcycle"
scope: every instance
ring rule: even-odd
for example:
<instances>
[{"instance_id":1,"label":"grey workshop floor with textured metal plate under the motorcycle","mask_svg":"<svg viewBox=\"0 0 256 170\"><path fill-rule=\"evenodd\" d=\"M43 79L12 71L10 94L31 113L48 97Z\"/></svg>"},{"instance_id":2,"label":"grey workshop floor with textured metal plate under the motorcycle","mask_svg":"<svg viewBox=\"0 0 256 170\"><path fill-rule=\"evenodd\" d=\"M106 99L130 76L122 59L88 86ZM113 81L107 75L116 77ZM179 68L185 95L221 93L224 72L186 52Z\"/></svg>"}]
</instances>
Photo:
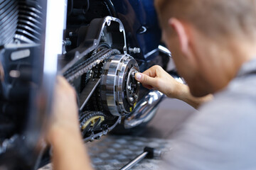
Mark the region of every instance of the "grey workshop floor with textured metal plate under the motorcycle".
<instances>
[{"instance_id":1,"label":"grey workshop floor with textured metal plate under the motorcycle","mask_svg":"<svg viewBox=\"0 0 256 170\"><path fill-rule=\"evenodd\" d=\"M171 138L195 110L182 101L166 98L147 127L135 135L107 135L101 140L87 143L92 166L102 170L117 170L142 153L145 146L157 149L171 148ZM159 159L144 159L133 169L155 170ZM50 170L47 165L40 170Z\"/></svg>"}]
</instances>

